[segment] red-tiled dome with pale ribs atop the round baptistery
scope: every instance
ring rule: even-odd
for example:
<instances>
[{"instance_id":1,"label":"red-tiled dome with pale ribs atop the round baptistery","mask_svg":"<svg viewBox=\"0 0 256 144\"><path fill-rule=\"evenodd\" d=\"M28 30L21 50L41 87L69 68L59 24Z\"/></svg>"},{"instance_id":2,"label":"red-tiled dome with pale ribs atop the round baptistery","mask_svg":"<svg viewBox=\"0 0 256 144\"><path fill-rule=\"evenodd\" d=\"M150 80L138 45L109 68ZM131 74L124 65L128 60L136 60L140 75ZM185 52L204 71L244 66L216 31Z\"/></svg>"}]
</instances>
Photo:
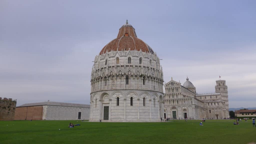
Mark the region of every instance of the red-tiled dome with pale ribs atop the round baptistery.
<instances>
[{"instance_id":1,"label":"red-tiled dome with pale ribs atop the round baptistery","mask_svg":"<svg viewBox=\"0 0 256 144\"><path fill-rule=\"evenodd\" d=\"M132 25L128 24L127 20L126 24L119 29L117 38L105 45L102 48L100 55L110 51L123 50L141 50L142 52L154 54L154 51L150 46L144 43L141 39L137 38L135 29L132 27Z\"/></svg>"}]
</instances>

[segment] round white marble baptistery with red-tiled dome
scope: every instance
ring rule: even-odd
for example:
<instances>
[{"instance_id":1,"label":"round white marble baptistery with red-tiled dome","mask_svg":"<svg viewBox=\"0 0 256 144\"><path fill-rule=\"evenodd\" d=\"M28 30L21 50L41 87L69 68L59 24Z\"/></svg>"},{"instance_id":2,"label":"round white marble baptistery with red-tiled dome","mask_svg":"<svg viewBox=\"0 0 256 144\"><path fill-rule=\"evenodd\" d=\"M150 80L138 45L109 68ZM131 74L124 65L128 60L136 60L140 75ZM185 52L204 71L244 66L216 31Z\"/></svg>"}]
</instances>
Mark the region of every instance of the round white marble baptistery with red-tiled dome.
<instances>
[{"instance_id":1,"label":"round white marble baptistery with red-tiled dome","mask_svg":"<svg viewBox=\"0 0 256 144\"><path fill-rule=\"evenodd\" d=\"M95 56L90 95L89 121L157 122L164 117L159 57L127 21Z\"/></svg>"}]
</instances>

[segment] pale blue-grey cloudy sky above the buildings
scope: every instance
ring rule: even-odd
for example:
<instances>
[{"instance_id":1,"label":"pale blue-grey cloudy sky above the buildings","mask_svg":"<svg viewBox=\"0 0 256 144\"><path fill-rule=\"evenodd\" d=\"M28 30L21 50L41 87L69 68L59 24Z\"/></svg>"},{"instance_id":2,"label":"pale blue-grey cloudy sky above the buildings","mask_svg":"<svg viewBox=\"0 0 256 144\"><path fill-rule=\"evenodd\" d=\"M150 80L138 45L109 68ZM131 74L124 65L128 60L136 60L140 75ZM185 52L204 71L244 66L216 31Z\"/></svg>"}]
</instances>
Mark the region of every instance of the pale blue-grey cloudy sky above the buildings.
<instances>
[{"instance_id":1,"label":"pale blue-grey cloudy sky above the buildings","mask_svg":"<svg viewBox=\"0 0 256 144\"><path fill-rule=\"evenodd\" d=\"M256 107L256 1L0 1L0 97L90 104L93 60L128 19L164 81L198 93L226 80L229 108ZM164 82L164 83L165 83Z\"/></svg>"}]
</instances>

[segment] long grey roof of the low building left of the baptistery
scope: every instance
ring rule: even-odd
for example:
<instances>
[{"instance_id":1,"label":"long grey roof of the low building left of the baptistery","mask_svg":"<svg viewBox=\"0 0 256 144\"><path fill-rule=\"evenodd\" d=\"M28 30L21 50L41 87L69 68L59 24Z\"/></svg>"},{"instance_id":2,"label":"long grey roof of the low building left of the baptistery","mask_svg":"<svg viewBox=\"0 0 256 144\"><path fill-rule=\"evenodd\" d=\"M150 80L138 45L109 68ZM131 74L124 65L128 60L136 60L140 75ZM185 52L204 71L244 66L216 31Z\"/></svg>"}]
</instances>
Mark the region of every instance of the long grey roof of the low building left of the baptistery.
<instances>
[{"instance_id":1,"label":"long grey roof of the low building left of the baptistery","mask_svg":"<svg viewBox=\"0 0 256 144\"><path fill-rule=\"evenodd\" d=\"M36 102L36 103L29 103L20 105L18 107L27 107L27 106L44 106L44 105L51 105L51 106L67 106L67 107L83 107L83 108L90 108L90 105L84 104L73 104L73 103L66 103L66 102L54 102L54 101L47 101L47 102Z\"/></svg>"}]
</instances>

